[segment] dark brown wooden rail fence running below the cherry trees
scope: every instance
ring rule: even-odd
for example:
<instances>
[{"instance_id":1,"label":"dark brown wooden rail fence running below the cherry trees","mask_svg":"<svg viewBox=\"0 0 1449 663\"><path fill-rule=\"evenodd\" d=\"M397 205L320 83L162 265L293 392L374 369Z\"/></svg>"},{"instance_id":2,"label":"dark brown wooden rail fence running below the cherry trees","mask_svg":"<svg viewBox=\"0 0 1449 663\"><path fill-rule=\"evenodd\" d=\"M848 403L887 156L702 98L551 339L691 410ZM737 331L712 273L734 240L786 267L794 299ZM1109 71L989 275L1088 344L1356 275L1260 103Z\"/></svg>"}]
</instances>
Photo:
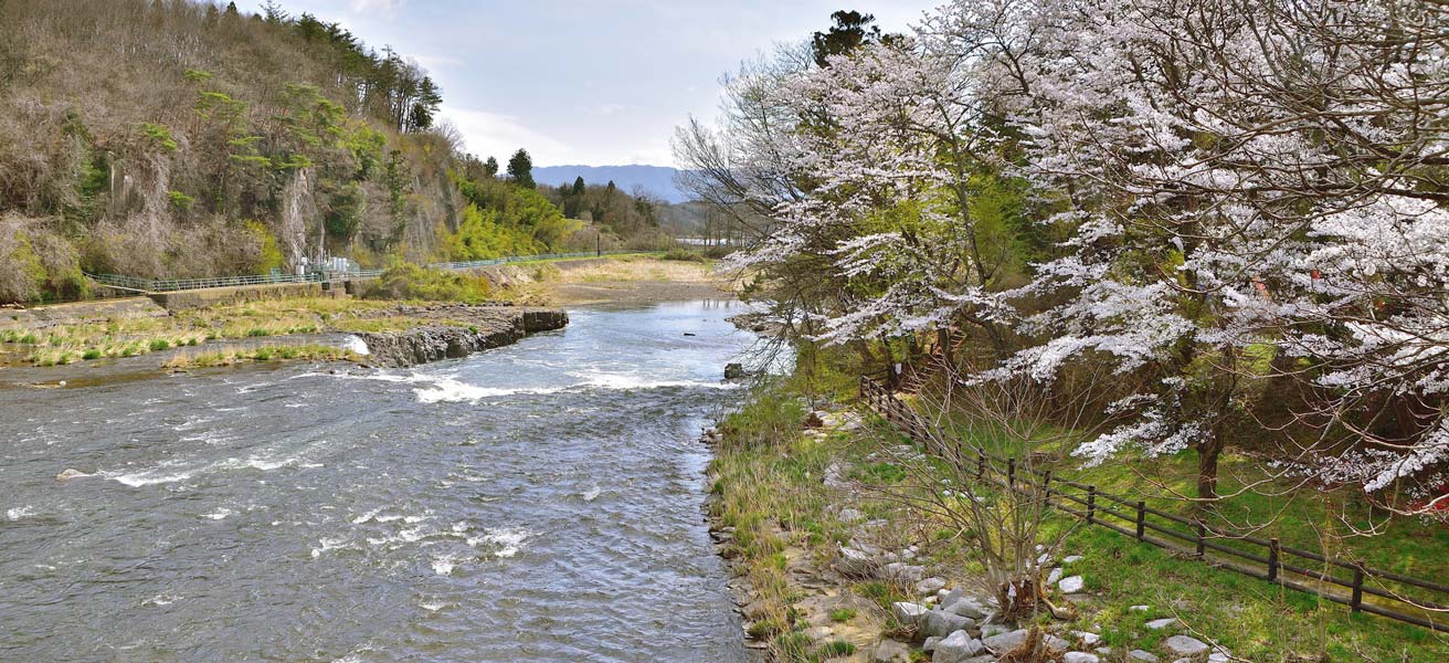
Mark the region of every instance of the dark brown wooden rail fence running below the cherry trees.
<instances>
[{"instance_id":1,"label":"dark brown wooden rail fence running below the cherry trees","mask_svg":"<svg viewBox=\"0 0 1449 663\"><path fill-rule=\"evenodd\" d=\"M932 428L884 384L861 377L861 399L877 415L927 451L939 444ZM1239 535L1201 519L1153 509L1140 499L1110 495L1078 482L1053 477L1051 470L1019 467L1016 458L998 458L968 444L955 442L951 457L961 458L978 480L1010 490L1040 495L1053 508L1087 525L1098 525L1140 543L1197 557L1222 569L1307 592L1353 612L1449 633L1449 585L1374 569L1361 563L1327 559L1320 553L1284 545L1277 538ZM971 458L971 460L966 460ZM1445 618L1436 618L1445 615Z\"/></svg>"}]
</instances>

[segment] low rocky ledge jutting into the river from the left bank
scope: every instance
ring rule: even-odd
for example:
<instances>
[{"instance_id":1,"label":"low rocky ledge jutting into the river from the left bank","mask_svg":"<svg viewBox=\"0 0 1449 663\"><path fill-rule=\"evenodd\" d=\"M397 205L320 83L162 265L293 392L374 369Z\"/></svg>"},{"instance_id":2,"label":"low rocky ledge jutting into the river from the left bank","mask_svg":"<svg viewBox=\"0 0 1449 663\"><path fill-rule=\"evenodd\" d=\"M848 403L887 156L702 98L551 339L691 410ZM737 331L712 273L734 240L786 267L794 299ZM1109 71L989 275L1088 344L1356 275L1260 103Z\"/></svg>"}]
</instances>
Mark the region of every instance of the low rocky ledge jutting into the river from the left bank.
<instances>
[{"instance_id":1,"label":"low rocky ledge jutting into the river from the left bank","mask_svg":"<svg viewBox=\"0 0 1449 663\"><path fill-rule=\"evenodd\" d=\"M568 313L558 309L439 305L400 306L397 313L435 322L404 331L356 334L367 344L368 364L396 368L459 358L568 325Z\"/></svg>"}]
</instances>

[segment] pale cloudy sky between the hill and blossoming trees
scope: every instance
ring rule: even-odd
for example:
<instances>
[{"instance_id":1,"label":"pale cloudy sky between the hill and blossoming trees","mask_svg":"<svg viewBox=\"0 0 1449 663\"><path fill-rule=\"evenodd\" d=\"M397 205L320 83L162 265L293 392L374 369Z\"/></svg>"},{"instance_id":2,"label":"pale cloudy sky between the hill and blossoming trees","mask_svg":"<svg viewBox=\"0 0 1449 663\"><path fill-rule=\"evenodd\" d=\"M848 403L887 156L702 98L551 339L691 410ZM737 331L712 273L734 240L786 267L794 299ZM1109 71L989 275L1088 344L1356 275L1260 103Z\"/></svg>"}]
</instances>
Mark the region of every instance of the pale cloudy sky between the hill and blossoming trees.
<instances>
[{"instance_id":1,"label":"pale cloudy sky between the hill and blossoming trees","mask_svg":"<svg viewBox=\"0 0 1449 663\"><path fill-rule=\"evenodd\" d=\"M443 88L443 118L468 151L536 165L674 165L669 136L713 118L719 77L777 42L806 39L830 13L904 30L945 0L280 0L391 45ZM238 1L258 12L261 0Z\"/></svg>"}]
</instances>

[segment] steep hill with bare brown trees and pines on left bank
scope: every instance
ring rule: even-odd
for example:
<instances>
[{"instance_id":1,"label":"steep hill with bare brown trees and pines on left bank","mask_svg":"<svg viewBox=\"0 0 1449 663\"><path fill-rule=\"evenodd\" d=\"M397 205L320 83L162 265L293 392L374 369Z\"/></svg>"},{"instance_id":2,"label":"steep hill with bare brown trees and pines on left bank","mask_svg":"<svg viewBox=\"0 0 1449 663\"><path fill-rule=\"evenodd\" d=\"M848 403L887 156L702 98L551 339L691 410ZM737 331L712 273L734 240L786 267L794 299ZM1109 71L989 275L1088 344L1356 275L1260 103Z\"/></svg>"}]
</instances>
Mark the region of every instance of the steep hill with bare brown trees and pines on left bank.
<instances>
[{"instance_id":1,"label":"steep hill with bare brown trees and pines on left bank","mask_svg":"<svg viewBox=\"0 0 1449 663\"><path fill-rule=\"evenodd\" d=\"M433 123L426 71L267 7L0 3L0 302L75 296L81 268L187 277L567 244L575 222Z\"/></svg>"}]
</instances>

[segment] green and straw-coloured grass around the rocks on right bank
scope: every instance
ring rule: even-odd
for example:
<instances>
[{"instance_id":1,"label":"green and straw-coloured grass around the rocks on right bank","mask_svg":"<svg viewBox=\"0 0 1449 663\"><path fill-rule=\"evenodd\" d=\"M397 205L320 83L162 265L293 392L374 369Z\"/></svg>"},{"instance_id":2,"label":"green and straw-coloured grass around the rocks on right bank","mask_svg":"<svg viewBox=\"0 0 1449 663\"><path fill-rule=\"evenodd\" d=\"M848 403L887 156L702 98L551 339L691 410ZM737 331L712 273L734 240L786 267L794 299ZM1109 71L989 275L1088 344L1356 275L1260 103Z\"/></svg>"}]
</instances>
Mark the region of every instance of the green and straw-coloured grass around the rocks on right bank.
<instances>
[{"instance_id":1,"label":"green and straw-coloured grass around the rocks on right bank","mask_svg":"<svg viewBox=\"0 0 1449 663\"><path fill-rule=\"evenodd\" d=\"M882 460L881 450L903 444L900 435L880 422L853 431L822 432L803 427L809 412L806 402L820 399L822 390L833 392L824 400L840 400L845 396L839 389L842 383L817 379L806 384L797 374L761 387L720 428L722 440L711 467L711 515L717 527L732 528L724 551L752 588L752 601L745 609L751 634L768 643L778 660L829 659L830 640L813 637L817 621L810 621L809 601L804 601L811 589L800 582L800 567L827 570L839 556L839 544L864 535L859 521L842 519L842 509L858 511L867 522L884 521L874 530L875 543L885 550L916 545L920 557L914 563L923 563L927 575L942 576L952 586L972 586L981 573L968 554L974 545L969 532L938 515L904 508L898 499L903 490L914 487L907 469ZM1171 506L1175 503L1162 498L1155 482L1175 476L1181 463L1190 458L1113 463L1075 479L1117 493L1152 495L1155 502ZM832 466L843 473L848 486L830 487L822 480ZM1224 477L1243 469L1229 467ZM1243 471L1236 476L1250 480ZM1185 485L1174 487L1185 489ZM1332 525L1326 503L1343 496L1311 493L1306 490L1294 499L1256 496L1226 506L1227 515L1278 514L1275 530L1261 535L1278 535L1285 543L1316 548L1314 541L1323 540L1321 532ZM1449 660L1449 638L1424 628L1350 615L1342 605L1214 569L1103 528L1085 528L1065 515L1049 518L1046 528L1049 535L1065 537L1064 554L1081 556L1065 564L1064 572L1082 576L1085 592L1069 601L1075 618L1043 617L1040 622L1059 634L1098 634L1098 646L1113 648L1103 660L1123 660L1135 648L1172 660L1162 644L1174 634L1222 644L1235 657L1252 662ZM1377 566L1435 579L1436 569L1440 575L1449 570L1443 561L1449 550L1445 535L1443 527L1403 521L1392 524L1382 537L1340 544L1353 545L1355 554ZM832 577L829 572L819 576L833 582L832 590L871 605L849 617L842 614L846 624L874 621L877 640L911 637L909 630L893 622L888 611L893 601L911 596L909 586L848 580ZM1140 605L1149 608L1132 609ZM1146 627L1148 621L1159 618L1179 622L1165 630ZM919 650L914 656L929 660Z\"/></svg>"}]
</instances>

